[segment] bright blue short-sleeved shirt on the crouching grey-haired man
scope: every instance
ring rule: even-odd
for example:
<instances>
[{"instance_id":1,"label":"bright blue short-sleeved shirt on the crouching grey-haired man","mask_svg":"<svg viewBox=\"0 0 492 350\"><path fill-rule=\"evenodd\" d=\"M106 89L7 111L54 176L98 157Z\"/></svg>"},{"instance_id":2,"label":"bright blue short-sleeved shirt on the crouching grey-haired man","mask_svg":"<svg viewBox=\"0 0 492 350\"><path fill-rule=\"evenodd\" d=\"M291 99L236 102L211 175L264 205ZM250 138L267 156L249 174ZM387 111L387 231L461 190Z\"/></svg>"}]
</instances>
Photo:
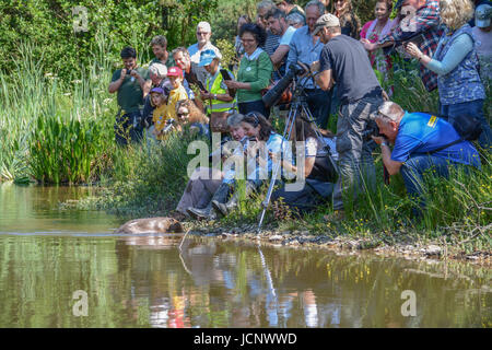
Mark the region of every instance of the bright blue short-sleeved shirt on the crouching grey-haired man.
<instances>
[{"instance_id":1,"label":"bright blue short-sleeved shirt on the crouching grey-haired man","mask_svg":"<svg viewBox=\"0 0 492 350\"><path fill-rule=\"evenodd\" d=\"M455 128L442 118L425 113L405 113L391 160L406 162L410 155L424 155L459 138ZM480 167L479 153L469 141L458 142L432 155Z\"/></svg>"}]
</instances>

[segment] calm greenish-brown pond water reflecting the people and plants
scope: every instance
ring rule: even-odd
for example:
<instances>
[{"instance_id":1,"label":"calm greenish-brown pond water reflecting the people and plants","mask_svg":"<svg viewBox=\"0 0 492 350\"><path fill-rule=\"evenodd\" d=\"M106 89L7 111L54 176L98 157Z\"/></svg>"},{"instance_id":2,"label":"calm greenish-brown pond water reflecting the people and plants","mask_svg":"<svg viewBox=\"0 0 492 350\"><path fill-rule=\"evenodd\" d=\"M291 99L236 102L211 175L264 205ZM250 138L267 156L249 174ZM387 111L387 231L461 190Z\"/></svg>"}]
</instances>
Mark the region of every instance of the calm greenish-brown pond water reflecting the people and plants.
<instances>
[{"instance_id":1,"label":"calm greenish-brown pond water reflecting the people and plants","mask_svg":"<svg viewBox=\"0 0 492 350\"><path fill-rule=\"evenodd\" d=\"M0 327L491 327L491 269L116 235L82 187L0 185Z\"/></svg>"}]
</instances>

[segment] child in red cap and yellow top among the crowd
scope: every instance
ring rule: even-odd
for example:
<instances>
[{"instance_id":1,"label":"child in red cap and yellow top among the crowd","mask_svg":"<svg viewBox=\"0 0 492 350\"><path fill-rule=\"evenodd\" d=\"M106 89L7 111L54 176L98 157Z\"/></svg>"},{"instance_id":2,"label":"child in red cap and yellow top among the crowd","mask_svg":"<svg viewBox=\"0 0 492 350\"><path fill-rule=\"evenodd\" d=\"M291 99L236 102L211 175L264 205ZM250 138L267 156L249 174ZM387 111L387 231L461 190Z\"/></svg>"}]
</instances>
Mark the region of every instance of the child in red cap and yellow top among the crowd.
<instances>
[{"instance_id":1,"label":"child in red cap and yellow top among the crowd","mask_svg":"<svg viewBox=\"0 0 492 350\"><path fill-rule=\"evenodd\" d=\"M155 126L155 135L159 140L164 138L164 128L166 124L174 119L176 120L176 104L180 100L187 100L188 95L186 94L186 90L183 86L183 70L179 67L171 67L167 70L167 79L169 80L172 90L169 92L169 96L167 97L167 103L165 108L157 113L154 110L154 126Z\"/></svg>"}]
</instances>

